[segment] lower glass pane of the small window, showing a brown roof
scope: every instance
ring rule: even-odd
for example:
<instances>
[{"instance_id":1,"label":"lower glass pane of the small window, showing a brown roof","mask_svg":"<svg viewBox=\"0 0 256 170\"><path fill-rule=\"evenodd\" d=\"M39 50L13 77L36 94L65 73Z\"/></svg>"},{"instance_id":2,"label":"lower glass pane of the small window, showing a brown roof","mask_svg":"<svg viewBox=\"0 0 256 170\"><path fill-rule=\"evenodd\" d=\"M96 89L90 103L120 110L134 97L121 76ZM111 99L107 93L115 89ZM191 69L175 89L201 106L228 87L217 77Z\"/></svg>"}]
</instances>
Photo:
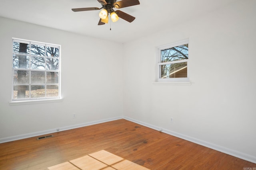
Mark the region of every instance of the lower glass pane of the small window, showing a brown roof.
<instances>
[{"instance_id":1,"label":"lower glass pane of the small window, showing a brown roof","mask_svg":"<svg viewBox=\"0 0 256 170\"><path fill-rule=\"evenodd\" d=\"M188 77L187 62L161 65L160 78L184 78Z\"/></svg>"}]
</instances>

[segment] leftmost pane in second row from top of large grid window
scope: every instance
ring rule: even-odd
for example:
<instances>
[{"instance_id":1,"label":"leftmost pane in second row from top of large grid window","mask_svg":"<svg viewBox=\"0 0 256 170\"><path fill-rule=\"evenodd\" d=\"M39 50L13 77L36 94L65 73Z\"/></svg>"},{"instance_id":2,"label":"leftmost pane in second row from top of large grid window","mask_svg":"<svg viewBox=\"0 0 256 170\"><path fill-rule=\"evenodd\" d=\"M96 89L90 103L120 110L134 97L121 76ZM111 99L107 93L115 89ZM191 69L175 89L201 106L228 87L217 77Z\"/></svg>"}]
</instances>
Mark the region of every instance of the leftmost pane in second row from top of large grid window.
<instances>
[{"instance_id":1,"label":"leftmost pane in second row from top of large grid window","mask_svg":"<svg viewBox=\"0 0 256 170\"><path fill-rule=\"evenodd\" d=\"M29 69L29 56L26 55L13 55L12 60L13 68L26 68Z\"/></svg>"}]
</instances>

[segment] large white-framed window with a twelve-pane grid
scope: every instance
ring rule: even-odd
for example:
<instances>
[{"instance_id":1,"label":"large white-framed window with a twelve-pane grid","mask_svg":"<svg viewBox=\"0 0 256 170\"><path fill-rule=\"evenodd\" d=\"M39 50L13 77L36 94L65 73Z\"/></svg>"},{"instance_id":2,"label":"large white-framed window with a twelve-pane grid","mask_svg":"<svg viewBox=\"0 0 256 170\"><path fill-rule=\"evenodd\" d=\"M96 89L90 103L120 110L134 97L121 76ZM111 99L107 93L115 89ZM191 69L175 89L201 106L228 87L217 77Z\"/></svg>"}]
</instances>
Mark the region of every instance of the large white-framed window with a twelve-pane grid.
<instances>
[{"instance_id":1,"label":"large white-framed window with a twelve-pane grid","mask_svg":"<svg viewBox=\"0 0 256 170\"><path fill-rule=\"evenodd\" d=\"M60 45L12 40L12 101L60 98Z\"/></svg>"}]
</instances>

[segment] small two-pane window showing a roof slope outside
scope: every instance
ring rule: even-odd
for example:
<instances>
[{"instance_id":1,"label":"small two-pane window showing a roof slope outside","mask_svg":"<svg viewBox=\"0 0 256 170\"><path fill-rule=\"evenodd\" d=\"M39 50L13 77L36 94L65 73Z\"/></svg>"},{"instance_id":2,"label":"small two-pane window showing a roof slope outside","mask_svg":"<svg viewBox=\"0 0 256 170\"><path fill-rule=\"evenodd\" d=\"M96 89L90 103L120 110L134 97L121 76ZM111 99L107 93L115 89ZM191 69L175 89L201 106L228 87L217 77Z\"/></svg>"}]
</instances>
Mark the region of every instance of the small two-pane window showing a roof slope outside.
<instances>
[{"instance_id":1,"label":"small two-pane window showing a roof slope outside","mask_svg":"<svg viewBox=\"0 0 256 170\"><path fill-rule=\"evenodd\" d=\"M158 82L186 82L188 79L188 41L158 48Z\"/></svg>"}]
</instances>

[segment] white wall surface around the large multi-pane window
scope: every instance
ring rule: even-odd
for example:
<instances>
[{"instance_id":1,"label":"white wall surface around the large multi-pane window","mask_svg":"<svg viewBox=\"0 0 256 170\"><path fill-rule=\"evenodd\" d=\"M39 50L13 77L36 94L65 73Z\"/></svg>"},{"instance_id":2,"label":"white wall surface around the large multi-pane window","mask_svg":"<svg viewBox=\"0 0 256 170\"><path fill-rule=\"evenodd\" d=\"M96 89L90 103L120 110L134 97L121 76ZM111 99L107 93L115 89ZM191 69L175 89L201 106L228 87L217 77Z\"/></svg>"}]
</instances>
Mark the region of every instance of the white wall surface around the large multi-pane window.
<instances>
[{"instance_id":1,"label":"white wall surface around the large multi-pane window","mask_svg":"<svg viewBox=\"0 0 256 170\"><path fill-rule=\"evenodd\" d=\"M0 139L123 115L123 45L0 18ZM12 37L61 45L63 102L10 106ZM110 47L116 46L114 51ZM76 118L72 114L76 113ZM62 130L62 129L61 129ZM15 139L15 137L14 137Z\"/></svg>"}]
</instances>

